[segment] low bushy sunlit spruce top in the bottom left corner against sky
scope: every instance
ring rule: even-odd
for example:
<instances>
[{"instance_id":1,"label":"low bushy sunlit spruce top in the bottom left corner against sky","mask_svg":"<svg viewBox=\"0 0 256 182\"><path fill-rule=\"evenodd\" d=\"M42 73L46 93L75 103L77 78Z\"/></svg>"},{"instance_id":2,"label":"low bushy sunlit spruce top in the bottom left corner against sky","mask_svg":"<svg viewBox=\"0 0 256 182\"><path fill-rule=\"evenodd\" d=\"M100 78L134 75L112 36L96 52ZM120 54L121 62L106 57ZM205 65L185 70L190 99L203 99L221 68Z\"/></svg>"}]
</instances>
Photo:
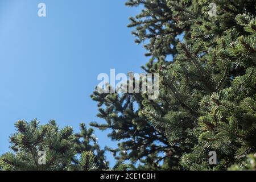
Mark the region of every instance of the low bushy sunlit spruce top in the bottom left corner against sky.
<instances>
[{"instance_id":1,"label":"low bushy sunlit spruce top in the bottom left corner against sky","mask_svg":"<svg viewBox=\"0 0 256 182\"><path fill-rule=\"evenodd\" d=\"M12 152L3 154L0 166L3 170L37 171L68 170L72 167L71 159L75 155L73 129L59 129L55 121L39 125L34 119L30 123L15 123L16 133L11 135ZM46 152L46 165L39 165L39 151Z\"/></svg>"}]
</instances>

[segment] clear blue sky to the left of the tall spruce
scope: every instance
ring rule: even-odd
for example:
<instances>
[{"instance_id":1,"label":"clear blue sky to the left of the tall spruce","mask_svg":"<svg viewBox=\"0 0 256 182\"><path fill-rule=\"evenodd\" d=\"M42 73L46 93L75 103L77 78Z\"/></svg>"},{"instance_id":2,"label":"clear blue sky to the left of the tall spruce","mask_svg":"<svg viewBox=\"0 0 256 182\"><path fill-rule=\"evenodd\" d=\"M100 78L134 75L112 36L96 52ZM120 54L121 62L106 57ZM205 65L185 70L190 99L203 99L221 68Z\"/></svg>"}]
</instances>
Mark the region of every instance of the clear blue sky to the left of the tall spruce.
<instances>
[{"instance_id":1,"label":"clear blue sky to the left of the tall spruce","mask_svg":"<svg viewBox=\"0 0 256 182\"><path fill-rule=\"evenodd\" d=\"M40 2L46 17L38 16ZM139 10L125 2L0 1L0 154L9 151L19 119L55 119L75 131L81 122L102 122L90 98L98 74L140 73L147 61L126 27ZM96 135L102 147L114 146L106 133Z\"/></svg>"}]
</instances>

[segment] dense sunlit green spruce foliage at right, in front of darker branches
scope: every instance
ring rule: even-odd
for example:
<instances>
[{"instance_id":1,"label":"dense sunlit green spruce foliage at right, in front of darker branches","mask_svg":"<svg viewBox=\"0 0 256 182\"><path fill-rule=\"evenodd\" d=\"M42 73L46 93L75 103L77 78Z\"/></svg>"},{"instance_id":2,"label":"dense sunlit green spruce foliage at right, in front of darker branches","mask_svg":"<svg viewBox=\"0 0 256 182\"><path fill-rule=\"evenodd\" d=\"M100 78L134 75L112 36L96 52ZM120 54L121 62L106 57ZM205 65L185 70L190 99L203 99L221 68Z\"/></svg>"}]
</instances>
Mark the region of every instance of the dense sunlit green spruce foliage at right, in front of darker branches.
<instances>
[{"instance_id":1,"label":"dense sunlit green spruce foliage at right, in front of darker branches","mask_svg":"<svg viewBox=\"0 0 256 182\"><path fill-rule=\"evenodd\" d=\"M171 143L193 146L181 159L191 170L227 169L256 150L255 1L214 2L216 17L208 15L210 1L181 10L191 15L191 36L160 71L169 111L147 111ZM216 166L208 163L209 151L217 152Z\"/></svg>"}]
</instances>

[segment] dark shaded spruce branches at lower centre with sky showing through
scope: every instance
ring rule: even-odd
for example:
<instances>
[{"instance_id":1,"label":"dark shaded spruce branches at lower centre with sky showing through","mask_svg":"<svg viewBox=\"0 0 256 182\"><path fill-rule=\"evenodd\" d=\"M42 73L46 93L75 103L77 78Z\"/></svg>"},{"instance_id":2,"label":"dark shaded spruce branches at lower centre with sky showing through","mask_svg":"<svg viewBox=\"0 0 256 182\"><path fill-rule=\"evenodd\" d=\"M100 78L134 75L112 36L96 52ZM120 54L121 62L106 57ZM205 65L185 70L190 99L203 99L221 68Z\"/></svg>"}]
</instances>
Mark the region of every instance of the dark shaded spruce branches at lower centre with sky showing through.
<instances>
[{"instance_id":1,"label":"dark shaded spruce branches at lower centre with sky showing through","mask_svg":"<svg viewBox=\"0 0 256 182\"><path fill-rule=\"evenodd\" d=\"M113 152L119 163L130 160L132 164L139 163L138 169L161 169L155 161L164 159L160 152L168 152L168 142L163 131L156 130L147 122L144 114L135 108L137 103L142 106L143 96L133 94L100 94L97 91L92 96L99 102L100 113L97 115L106 120L106 124L90 123L101 130L112 129L108 135L119 141L118 148L108 150ZM105 108L104 108L105 107Z\"/></svg>"}]
</instances>

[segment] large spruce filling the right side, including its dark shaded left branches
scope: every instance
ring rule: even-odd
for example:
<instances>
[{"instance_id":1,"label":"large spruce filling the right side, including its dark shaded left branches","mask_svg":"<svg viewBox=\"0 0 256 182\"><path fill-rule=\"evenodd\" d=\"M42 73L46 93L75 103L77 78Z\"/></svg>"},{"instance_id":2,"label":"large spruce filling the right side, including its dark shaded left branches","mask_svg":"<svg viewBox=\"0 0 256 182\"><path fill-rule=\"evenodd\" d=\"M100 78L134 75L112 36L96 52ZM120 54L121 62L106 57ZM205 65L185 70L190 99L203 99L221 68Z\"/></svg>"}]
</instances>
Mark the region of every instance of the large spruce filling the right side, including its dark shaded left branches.
<instances>
[{"instance_id":1,"label":"large spruce filling the right side, including its dark shaded left branches","mask_svg":"<svg viewBox=\"0 0 256 182\"><path fill-rule=\"evenodd\" d=\"M214 3L216 16L209 14ZM119 141L119 160L137 169L228 169L255 153L255 1L140 1L130 18L136 43L160 74L160 96L99 94L98 117ZM183 41L178 39L183 34ZM168 57L174 57L168 60ZM217 152L217 165L208 152ZM163 163L162 163L163 162Z\"/></svg>"}]
</instances>

